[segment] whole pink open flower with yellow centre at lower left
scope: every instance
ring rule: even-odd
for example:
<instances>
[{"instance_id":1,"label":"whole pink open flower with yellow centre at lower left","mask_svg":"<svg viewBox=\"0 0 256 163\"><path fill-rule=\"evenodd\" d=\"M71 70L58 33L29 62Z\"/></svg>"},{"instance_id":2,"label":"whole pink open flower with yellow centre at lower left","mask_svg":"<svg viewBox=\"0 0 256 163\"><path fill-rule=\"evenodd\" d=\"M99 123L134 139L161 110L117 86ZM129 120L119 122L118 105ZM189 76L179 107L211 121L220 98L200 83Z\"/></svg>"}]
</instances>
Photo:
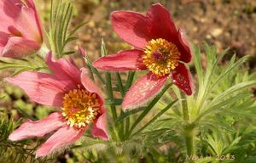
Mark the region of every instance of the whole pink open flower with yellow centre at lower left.
<instances>
[{"instance_id":1,"label":"whole pink open flower with yellow centre at lower left","mask_svg":"<svg viewBox=\"0 0 256 163\"><path fill-rule=\"evenodd\" d=\"M46 57L46 64L53 74L27 71L5 80L22 88L32 101L60 107L61 110L40 121L24 122L9 135L9 139L44 137L56 131L36 151L37 157L50 155L75 142L90 124L93 137L107 140L103 98L87 76L87 70L79 70L72 59L53 61L51 53Z\"/></svg>"}]
</instances>

